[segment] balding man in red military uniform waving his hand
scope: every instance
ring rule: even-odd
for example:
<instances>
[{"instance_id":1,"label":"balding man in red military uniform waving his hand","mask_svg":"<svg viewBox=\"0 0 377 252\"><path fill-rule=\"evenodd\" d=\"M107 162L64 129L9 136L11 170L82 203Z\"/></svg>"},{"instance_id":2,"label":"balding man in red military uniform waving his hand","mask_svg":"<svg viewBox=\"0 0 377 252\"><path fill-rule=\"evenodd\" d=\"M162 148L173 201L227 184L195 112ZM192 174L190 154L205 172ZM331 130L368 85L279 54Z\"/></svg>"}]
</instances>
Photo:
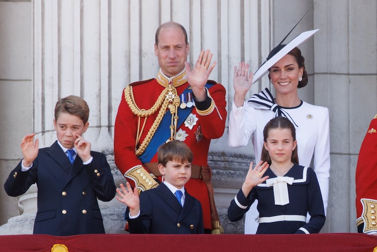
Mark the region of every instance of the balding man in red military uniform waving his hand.
<instances>
[{"instance_id":1,"label":"balding man in red military uniform waving his hand","mask_svg":"<svg viewBox=\"0 0 377 252\"><path fill-rule=\"evenodd\" d=\"M191 178L185 185L201 202L204 228L223 233L213 199L212 172L207 158L211 139L225 129L225 88L208 80L216 62L202 50L194 68L187 62L185 28L168 22L156 31L156 78L131 83L122 92L115 121L114 156L118 169L139 191L157 187L157 148L180 140L193 152Z\"/></svg>"}]
</instances>

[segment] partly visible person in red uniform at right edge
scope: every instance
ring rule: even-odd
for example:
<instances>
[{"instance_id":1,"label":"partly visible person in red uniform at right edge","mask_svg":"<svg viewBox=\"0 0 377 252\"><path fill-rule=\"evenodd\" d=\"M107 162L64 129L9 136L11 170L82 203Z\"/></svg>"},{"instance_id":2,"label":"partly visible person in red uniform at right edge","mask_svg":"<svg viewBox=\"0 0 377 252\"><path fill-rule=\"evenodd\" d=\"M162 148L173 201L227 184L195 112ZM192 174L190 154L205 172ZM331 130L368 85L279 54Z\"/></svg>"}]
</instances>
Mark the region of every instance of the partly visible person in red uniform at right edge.
<instances>
[{"instance_id":1,"label":"partly visible person in red uniform at right edge","mask_svg":"<svg viewBox=\"0 0 377 252\"><path fill-rule=\"evenodd\" d=\"M377 234L377 115L361 143L356 166L356 214L359 233Z\"/></svg>"}]
</instances>

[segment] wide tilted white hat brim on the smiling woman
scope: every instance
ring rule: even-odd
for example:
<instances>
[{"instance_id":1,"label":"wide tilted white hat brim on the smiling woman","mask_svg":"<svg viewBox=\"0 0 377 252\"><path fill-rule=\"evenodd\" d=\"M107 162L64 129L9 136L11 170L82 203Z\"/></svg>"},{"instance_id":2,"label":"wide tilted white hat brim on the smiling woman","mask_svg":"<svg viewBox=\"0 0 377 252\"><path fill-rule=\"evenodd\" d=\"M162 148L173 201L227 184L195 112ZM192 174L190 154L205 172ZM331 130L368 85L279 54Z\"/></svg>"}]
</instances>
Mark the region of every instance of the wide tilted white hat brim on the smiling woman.
<instances>
[{"instance_id":1,"label":"wide tilted white hat brim on the smiling woman","mask_svg":"<svg viewBox=\"0 0 377 252\"><path fill-rule=\"evenodd\" d=\"M293 48L300 46L308 38L313 36L319 29L308 30L300 33L294 39L292 39L288 44L286 44L280 51L278 51L274 56L268 59L264 64L262 64L259 69L253 75L253 83L257 82L261 77L263 77L276 62L283 58L288 52Z\"/></svg>"}]
</instances>

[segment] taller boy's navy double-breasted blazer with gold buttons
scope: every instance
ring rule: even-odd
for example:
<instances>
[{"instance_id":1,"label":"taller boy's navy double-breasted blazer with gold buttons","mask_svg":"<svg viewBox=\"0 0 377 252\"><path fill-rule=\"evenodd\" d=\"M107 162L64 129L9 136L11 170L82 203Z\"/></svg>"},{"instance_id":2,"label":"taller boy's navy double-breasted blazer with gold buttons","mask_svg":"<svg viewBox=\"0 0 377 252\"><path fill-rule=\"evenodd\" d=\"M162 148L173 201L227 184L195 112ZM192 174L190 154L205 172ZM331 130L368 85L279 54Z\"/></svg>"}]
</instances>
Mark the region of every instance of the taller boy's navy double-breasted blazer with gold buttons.
<instances>
[{"instance_id":1,"label":"taller boy's navy double-breasted blazer with gold buttons","mask_svg":"<svg viewBox=\"0 0 377 252\"><path fill-rule=\"evenodd\" d=\"M33 166L21 171L21 162L4 184L9 196L24 194L36 183L38 211L34 234L75 235L104 233L98 200L111 201L116 194L114 178L102 153L91 151L93 160L84 165L77 155L71 164L55 141L40 149Z\"/></svg>"}]
</instances>

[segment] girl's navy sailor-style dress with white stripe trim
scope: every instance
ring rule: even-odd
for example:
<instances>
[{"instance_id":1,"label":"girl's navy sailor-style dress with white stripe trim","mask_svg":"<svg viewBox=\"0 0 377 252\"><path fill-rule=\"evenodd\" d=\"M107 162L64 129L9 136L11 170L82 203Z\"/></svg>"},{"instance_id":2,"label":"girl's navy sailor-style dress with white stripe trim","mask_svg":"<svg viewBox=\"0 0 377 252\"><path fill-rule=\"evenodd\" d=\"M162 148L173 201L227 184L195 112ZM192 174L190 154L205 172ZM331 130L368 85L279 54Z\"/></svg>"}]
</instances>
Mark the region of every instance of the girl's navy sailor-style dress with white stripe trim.
<instances>
[{"instance_id":1,"label":"girl's navy sailor-style dress with white stripe trim","mask_svg":"<svg viewBox=\"0 0 377 252\"><path fill-rule=\"evenodd\" d=\"M277 177L270 168L264 176ZM326 217L314 171L295 164L284 177L293 177L293 183L287 184L289 203L275 204L273 186L267 186L265 181L254 187L247 198L239 190L228 208L229 220L241 220L251 204L258 200L257 234L318 233L325 224ZM307 212L311 218L306 223Z\"/></svg>"}]
</instances>

